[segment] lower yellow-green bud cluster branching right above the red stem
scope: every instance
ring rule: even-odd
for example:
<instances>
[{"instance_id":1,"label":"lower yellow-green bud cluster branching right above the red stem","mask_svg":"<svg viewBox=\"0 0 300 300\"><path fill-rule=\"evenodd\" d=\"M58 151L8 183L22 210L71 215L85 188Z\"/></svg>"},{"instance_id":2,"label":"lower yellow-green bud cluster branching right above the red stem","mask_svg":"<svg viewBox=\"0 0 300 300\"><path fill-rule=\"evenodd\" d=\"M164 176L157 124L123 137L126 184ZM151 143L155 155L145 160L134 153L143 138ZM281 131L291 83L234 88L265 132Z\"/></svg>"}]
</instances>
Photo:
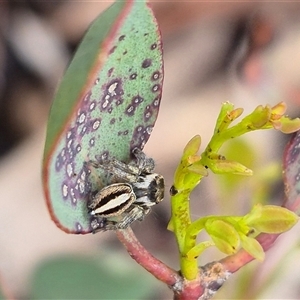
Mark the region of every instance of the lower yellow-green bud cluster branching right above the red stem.
<instances>
[{"instance_id":1,"label":"lower yellow-green bud cluster branching right above the red stem","mask_svg":"<svg viewBox=\"0 0 300 300\"><path fill-rule=\"evenodd\" d=\"M297 221L298 217L286 208L258 204L244 217L208 216L198 219L188 227L186 240L193 239L205 229L221 252L233 254L241 244L253 257L263 260L263 249L255 237L259 233L282 233L291 229Z\"/></svg>"}]
</instances>

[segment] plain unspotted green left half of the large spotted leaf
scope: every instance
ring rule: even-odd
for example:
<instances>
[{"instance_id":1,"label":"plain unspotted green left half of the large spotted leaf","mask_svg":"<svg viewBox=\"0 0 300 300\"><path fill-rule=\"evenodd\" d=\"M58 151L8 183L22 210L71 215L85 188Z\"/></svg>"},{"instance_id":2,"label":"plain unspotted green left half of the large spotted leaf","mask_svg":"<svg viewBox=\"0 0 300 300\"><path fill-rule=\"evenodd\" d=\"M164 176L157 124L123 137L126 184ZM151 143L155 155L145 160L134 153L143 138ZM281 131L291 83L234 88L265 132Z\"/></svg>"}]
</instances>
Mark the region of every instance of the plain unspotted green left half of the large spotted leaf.
<instances>
[{"instance_id":1,"label":"plain unspotted green left half of the large spotted leaf","mask_svg":"<svg viewBox=\"0 0 300 300\"><path fill-rule=\"evenodd\" d=\"M125 5L125 1L118 1L101 14L93 22L77 49L56 93L54 101L57 102L57 105L51 107L45 142L45 158L49 155L66 121L69 121L70 115L78 105L78 99L82 97L82 90L87 81L91 80L90 73L98 59L101 44L107 38Z\"/></svg>"}]
</instances>

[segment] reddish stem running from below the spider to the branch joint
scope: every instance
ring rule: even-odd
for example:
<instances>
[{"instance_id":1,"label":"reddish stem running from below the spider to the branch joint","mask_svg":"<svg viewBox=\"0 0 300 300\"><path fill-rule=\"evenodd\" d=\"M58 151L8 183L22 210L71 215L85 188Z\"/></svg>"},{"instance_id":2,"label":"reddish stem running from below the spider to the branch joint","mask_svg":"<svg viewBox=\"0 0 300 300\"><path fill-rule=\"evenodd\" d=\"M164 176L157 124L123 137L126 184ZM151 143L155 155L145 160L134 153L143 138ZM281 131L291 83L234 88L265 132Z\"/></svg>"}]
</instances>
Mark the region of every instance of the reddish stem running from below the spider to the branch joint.
<instances>
[{"instance_id":1,"label":"reddish stem running from below the spider to the branch joint","mask_svg":"<svg viewBox=\"0 0 300 300\"><path fill-rule=\"evenodd\" d=\"M120 242L125 246L129 255L144 269L158 280L166 283L174 291L181 291L182 277L163 262L152 256L138 241L130 227L116 231Z\"/></svg>"}]
</instances>

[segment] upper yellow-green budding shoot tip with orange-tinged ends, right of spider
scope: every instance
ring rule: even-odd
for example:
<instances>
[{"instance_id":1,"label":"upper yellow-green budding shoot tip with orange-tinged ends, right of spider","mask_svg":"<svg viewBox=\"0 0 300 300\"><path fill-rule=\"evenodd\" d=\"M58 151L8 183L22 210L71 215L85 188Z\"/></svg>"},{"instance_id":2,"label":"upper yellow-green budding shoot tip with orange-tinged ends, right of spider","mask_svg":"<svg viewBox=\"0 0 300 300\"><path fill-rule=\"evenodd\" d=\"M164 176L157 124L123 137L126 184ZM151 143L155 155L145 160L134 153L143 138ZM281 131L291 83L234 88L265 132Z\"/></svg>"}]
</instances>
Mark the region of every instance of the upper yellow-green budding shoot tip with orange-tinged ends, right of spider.
<instances>
[{"instance_id":1,"label":"upper yellow-green budding shoot tip with orange-tinged ends, right of spider","mask_svg":"<svg viewBox=\"0 0 300 300\"><path fill-rule=\"evenodd\" d=\"M274 107L260 105L242 121L229 127L242 114L243 109L234 109L233 104L224 103L217 119L214 135L202 154L202 165L216 174L252 175L252 171L239 162L226 160L218 153L220 148L226 141L254 130L275 128L284 133L296 131L300 128L300 119L290 120L283 116L285 110L284 103Z\"/></svg>"}]
</instances>

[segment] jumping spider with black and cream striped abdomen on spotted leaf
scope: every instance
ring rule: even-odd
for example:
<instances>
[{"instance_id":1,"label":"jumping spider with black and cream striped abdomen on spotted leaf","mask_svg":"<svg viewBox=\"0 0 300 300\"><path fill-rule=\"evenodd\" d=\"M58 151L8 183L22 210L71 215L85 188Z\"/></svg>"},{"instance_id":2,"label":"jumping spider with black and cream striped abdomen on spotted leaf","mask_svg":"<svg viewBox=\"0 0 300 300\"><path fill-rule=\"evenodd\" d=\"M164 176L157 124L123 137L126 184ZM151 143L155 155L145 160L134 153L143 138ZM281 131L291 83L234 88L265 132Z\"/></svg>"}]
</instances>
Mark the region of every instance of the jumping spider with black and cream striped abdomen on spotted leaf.
<instances>
[{"instance_id":1,"label":"jumping spider with black and cream striped abdomen on spotted leaf","mask_svg":"<svg viewBox=\"0 0 300 300\"><path fill-rule=\"evenodd\" d=\"M93 217L93 232L117 230L128 227L136 220L143 220L151 206L164 198L164 178L152 173L154 160L135 148L136 161L126 164L115 158L103 162L90 161L95 168L110 173L117 183L105 186L91 197L88 212Z\"/></svg>"}]
</instances>

